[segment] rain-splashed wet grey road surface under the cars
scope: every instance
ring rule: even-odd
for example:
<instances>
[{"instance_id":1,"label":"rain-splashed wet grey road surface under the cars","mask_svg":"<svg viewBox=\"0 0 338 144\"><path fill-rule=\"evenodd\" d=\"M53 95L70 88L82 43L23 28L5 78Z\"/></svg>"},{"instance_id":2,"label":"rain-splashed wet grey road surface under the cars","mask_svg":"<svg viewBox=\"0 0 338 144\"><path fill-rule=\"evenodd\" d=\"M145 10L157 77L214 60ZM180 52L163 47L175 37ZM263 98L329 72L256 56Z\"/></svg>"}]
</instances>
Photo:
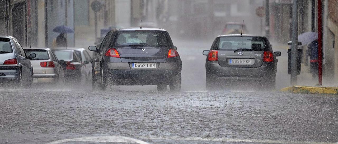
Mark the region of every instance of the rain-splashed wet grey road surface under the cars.
<instances>
[{"instance_id":1,"label":"rain-splashed wet grey road surface under the cars","mask_svg":"<svg viewBox=\"0 0 338 144\"><path fill-rule=\"evenodd\" d=\"M206 91L201 50L211 42L176 44L183 61L180 93L159 93L156 86L0 88L0 143L338 142L337 96L248 87ZM277 88L289 85L285 57L279 58Z\"/></svg>"}]
</instances>

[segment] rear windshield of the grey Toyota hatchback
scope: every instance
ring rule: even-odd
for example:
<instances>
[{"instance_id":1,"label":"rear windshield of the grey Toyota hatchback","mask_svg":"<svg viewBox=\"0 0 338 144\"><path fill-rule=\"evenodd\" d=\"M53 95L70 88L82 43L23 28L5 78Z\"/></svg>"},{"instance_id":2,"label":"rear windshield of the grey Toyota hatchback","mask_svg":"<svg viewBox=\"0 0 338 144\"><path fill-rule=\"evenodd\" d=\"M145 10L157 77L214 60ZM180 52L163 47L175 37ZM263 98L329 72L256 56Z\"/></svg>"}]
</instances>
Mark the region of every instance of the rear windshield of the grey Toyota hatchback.
<instances>
[{"instance_id":1,"label":"rear windshield of the grey Toyota hatchback","mask_svg":"<svg viewBox=\"0 0 338 144\"><path fill-rule=\"evenodd\" d=\"M251 51L263 51L266 46L263 37L220 37L219 50L246 49Z\"/></svg>"}]
</instances>

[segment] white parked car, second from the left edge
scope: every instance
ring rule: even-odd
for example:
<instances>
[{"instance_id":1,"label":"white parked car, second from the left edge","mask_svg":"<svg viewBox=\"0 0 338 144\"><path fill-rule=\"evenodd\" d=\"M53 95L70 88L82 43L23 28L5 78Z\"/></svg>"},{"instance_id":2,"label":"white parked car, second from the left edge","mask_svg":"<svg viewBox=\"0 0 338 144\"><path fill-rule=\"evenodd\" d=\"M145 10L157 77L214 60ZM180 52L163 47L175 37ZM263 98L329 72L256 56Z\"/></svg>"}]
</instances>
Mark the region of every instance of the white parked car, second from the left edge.
<instances>
[{"instance_id":1,"label":"white parked car, second from the left edge","mask_svg":"<svg viewBox=\"0 0 338 144\"><path fill-rule=\"evenodd\" d=\"M59 83L65 79L62 65L49 48L26 48L27 55L35 53L30 59L34 68L33 83Z\"/></svg>"}]
</instances>

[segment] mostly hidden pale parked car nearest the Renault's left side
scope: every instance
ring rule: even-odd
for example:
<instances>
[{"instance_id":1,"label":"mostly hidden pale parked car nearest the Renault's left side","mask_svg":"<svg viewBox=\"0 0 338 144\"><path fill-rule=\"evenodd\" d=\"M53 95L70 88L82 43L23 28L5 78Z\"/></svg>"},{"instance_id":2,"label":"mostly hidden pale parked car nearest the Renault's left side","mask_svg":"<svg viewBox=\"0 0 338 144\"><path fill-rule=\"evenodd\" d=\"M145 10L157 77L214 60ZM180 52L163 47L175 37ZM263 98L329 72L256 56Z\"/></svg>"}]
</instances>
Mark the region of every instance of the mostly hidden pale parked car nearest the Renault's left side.
<instances>
[{"instance_id":1,"label":"mostly hidden pale parked car nearest the Renault's left side","mask_svg":"<svg viewBox=\"0 0 338 144\"><path fill-rule=\"evenodd\" d=\"M58 49L66 49L66 48L58 48ZM75 51L76 55L79 57L83 67L81 69L81 75L83 80L91 81L92 79L92 58L88 53L87 49L78 48L78 47L67 47L67 49L72 49Z\"/></svg>"}]
</instances>

